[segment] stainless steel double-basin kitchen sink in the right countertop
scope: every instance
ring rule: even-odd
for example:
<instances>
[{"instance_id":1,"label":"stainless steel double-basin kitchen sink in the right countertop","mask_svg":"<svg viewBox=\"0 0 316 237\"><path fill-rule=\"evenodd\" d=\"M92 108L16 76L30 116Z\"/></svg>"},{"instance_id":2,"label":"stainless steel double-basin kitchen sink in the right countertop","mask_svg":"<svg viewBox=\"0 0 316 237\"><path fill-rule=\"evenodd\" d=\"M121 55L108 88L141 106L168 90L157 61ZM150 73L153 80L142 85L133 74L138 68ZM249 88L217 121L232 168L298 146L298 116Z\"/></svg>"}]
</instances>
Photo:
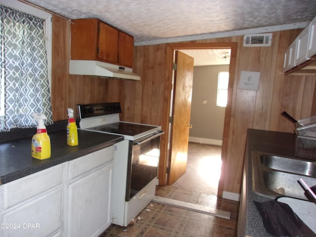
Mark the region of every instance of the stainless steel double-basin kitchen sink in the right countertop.
<instances>
[{"instance_id":1,"label":"stainless steel double-basin kitchen sink in the right countertop","mask_svg":"<svg viewBox=\"0 0 316 237\"><path fill-rule=\"evenodd\" d=\"M310 187L316 185L316 163L299 158L252 152L253 190L259 195L312 200L298 182L300 178Z\"/></svg>"}]
</instances>

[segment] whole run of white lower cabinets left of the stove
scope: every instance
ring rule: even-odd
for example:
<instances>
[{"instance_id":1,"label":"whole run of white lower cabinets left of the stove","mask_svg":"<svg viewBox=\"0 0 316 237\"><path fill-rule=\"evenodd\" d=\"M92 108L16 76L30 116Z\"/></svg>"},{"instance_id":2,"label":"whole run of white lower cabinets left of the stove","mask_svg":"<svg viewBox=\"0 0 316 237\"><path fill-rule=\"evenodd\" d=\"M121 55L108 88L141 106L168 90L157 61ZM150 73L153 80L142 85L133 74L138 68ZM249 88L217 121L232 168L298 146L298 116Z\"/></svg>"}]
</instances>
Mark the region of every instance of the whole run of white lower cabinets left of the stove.
<instances>
[{"instance_id":1,"label":"whole run of white lower cabinets left of the stove","mask_svg":"<svg viewBox=\"0 0 316 237\"><path fill-rule=\"evenodd\" d=\"M0 185L0 237L95 237L111 225L114 147Z\"/></svg>"}]
</instances>

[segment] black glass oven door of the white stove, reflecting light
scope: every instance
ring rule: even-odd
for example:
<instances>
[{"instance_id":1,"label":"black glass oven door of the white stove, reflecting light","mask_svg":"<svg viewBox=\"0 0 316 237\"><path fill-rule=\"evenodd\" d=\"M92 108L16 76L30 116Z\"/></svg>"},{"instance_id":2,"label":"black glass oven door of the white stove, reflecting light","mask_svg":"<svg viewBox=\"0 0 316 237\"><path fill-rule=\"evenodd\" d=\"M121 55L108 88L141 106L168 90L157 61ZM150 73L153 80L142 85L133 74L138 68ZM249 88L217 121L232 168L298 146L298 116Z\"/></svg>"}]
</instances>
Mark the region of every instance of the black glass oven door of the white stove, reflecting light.
<instances>
[{"instance_id":1,"label":"black glass oven door of the white stove, reflecting light","mask_svg":"<svg viewBox=\"0 0 316 237\"><path fill-rule=\"evenodd\" d=\"M160 135L162 133L162 131L158 131L129 142L126 201L157 177Z\"/></svg>"}]
</instances>

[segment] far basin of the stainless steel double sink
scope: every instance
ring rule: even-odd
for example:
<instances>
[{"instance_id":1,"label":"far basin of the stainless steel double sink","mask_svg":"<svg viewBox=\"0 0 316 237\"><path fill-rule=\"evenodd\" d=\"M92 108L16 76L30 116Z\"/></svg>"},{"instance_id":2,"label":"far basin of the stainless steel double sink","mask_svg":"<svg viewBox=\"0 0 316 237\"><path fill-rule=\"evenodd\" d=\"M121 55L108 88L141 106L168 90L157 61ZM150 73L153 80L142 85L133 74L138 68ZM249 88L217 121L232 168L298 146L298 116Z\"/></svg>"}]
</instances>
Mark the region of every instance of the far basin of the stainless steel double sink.
<instances>
[{"instance_id":1,"label":"far basin of the stainless steel double sink","mask_svg":"<svg viewBox=\"0 0 316 237\"><path fill-rule=\"evenodd\" d=\"M272 169L316 177L316 163L307 160L261 155L261 163Z\"/></svg>"}]
</instances>

